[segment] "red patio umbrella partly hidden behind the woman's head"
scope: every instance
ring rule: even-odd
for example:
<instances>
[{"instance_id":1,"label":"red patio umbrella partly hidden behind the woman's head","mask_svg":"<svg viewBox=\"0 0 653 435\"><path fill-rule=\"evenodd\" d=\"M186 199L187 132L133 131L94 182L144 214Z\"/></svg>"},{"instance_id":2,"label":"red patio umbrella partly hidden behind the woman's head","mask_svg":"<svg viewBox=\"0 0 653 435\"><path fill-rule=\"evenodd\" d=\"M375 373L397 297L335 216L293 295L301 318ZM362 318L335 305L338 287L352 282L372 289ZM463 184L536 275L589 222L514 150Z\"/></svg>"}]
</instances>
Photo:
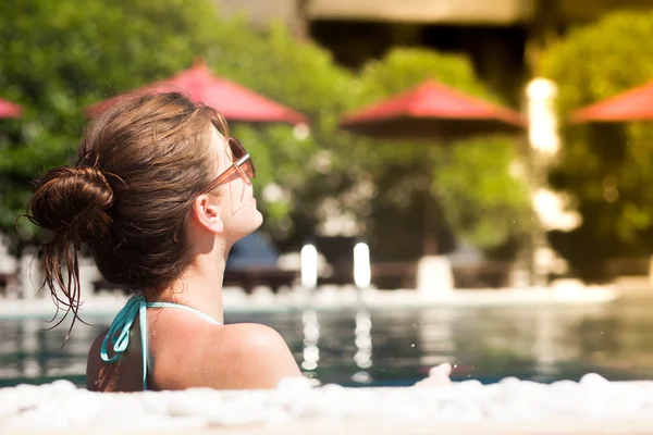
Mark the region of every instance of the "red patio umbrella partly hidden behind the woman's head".
<instances>
[{"instance_id":1,"label":"red patio umbrella partly hidden behind the woman's head","mask_svg":"<svg viewBox=\"0 0 653 435\"><path fill-rule=\"evenodd\" d=\"M111 98L88 109L89 115L101 113L119 99L148 92L183 91L196 103L218 110L227 121L243 123L301 124L307 119L301 113L272 101L244 86L214 76L202 61L169 79L132 90Z\"/></svg>"}]
</instances>

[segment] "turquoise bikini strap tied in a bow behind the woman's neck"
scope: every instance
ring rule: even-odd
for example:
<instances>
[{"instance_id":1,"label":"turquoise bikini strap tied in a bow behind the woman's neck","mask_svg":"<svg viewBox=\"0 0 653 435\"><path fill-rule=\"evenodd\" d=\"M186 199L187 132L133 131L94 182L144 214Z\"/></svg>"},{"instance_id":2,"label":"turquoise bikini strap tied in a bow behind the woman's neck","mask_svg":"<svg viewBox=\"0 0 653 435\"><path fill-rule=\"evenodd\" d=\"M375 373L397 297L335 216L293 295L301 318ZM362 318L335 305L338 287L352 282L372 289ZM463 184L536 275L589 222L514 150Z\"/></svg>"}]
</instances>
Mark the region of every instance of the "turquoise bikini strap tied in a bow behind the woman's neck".
<instances>
[{"instance_id":1,"label":"turquoise bikini strap tied in a bow behind the woman's neck","mask_svg":"<svg viewBox=\"0 0 653 435\"><path fill-rule=\"evenodd\" d=\"M148 308L180 308L186 311L190 311L209 323L219 325L220 322L210 318L209 315L202 313L199 310L196 310L190 307L182 306L178 303L171 302L148 302L144 296L137 295L132 296L127 303L123 307L122 310L115 315L113 322L111 322L111 326L109 326L109 332L104 337L104 341L102 343L102 349L100 350L100 357L104 362L116 362L122 353L127 349L130 345L130 330L136 320L136 315L139 316L140 322L140 348L143 350L143 389L147 389L147 315L146 310ZM115 355L109 358L107 353L107 347L109 346L109 341L113 343L113 351Z\"/></svg>"}]
</instances>

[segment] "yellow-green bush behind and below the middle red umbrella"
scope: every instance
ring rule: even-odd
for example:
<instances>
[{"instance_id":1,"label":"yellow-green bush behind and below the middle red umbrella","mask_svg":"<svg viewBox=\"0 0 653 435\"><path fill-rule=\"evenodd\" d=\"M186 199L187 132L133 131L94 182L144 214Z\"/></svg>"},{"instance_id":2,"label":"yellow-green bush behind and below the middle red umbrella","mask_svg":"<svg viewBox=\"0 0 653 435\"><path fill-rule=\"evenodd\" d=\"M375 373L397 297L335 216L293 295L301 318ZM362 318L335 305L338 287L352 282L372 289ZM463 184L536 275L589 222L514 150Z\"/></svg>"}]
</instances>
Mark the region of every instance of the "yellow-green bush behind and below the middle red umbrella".
<instances>
[{"instance_id":1,"label":"yellow-green bush behind and below the middle red umbrella","mask_svg":"<svg viewBox=\"0 0 653 435\"><path fill-rule=\"evenodd\" d=\"M396 49L368 65L361 73L360 101L380 100L428 78L498 101L476 77L467 59L417 49ZM430 142L379 140L367 141L366 151L379 185L372 226L392 240L385 247L379 240L381 250L403 248L405 257L421 253L418 228L423 228L424 197L419 192L429 177L445 224L467 243L494 249L529 227L526 185L509 173L510 164L519 159L509 138L478 137L456 144L438 138Z\"/></svg>"}]
</instances>

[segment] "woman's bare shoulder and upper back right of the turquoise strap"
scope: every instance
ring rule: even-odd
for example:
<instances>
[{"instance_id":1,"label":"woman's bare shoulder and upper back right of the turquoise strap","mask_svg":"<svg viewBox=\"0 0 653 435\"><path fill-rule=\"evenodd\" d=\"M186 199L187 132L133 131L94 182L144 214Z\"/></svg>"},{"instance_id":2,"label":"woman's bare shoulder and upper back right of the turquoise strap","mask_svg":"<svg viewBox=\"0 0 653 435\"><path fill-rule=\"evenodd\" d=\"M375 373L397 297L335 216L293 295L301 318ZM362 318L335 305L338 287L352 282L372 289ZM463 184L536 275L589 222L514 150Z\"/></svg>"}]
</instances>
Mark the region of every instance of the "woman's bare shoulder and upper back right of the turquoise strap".
<instances>
[{"instance_id":1,"label":"woman's bare shoulder and upper back right of the turquoise strap","mask_svg":"<svg viewBox=\"0 0 653 435\"><path fill-rule=\"evenodd\" d=\"M157 389L266 389L301 375L283 337L260 324L161 322L151 353Z\"/></svg>"}]
</instances>

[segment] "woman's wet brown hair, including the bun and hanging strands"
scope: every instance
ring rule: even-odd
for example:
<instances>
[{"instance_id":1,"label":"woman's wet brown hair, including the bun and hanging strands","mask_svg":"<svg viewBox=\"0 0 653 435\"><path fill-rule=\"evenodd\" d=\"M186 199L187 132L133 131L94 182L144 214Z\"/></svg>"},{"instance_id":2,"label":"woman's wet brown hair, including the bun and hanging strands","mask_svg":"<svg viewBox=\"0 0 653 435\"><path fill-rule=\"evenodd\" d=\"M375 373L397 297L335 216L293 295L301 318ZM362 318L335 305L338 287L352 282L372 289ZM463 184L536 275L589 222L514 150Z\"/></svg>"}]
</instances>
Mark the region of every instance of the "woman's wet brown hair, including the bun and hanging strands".
<instances>
[{"instance_id":1,"label":"woman's wet brown hair, including the bun and hanging strands","mask_svg":"<svg viewBox=\"0 0 653 435\"><path fill-rule=\"evenodd\" d=\"M82 244L109 283L134 293L162 289L188 266L184 223L217 170L210 125L227 135L221 115L178 92L122 99L90 123L76 166L37 184L26 216L50 236L44 287L73 323Z\"/></svg>"}]
</instances>

